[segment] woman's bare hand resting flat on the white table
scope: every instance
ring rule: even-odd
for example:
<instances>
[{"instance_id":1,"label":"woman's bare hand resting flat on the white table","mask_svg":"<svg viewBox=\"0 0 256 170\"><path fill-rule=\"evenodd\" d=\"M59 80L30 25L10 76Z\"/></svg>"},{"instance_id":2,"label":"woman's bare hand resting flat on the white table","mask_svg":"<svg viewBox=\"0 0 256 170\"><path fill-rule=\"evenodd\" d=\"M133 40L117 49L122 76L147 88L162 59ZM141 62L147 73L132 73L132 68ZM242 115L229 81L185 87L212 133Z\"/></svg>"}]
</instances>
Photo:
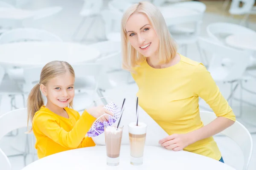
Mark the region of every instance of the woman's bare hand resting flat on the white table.
<instances>
[{"instance_id":1,"label":"woman's bare hand resting flat on the white table","mask_svg":"<svg viewBox=\"0 0 256 170\"><path fill-rule=\"evenodd\" d=\"M161 146L174 151L182 150L192 143L191 137L186 134L173 134L159 141Z\"/></svg>"}]
</instances>

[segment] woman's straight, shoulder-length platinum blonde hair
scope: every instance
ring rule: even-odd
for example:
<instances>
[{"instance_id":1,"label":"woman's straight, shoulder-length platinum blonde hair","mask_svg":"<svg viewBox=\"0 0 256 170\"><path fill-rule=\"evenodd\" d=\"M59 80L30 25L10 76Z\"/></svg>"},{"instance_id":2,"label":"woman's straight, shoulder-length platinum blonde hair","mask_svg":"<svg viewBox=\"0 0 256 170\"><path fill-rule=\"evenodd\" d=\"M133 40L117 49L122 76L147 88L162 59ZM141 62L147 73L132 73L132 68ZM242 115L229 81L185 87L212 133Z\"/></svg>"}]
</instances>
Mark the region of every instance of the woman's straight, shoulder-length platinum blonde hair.
<instances>
[{"instance_id":1,"label":"woman's straight, shoulder-length platinum blonde hair","mask_svg":"<svg viewBox=\"0 0 256 170\"><path fill-rule=\"evenodd\" d=\"M128 71L134 71L133 68L145 59L142 54L131 46L125 30L128 18L132 14L137 13L145 14L157 33L160 40L157 50L159 64L168 63L176 55L176 42L172 39L160 10L149 2L140 2L129 7L122 16L122 68Z\"/></svg>"}]
</instances>

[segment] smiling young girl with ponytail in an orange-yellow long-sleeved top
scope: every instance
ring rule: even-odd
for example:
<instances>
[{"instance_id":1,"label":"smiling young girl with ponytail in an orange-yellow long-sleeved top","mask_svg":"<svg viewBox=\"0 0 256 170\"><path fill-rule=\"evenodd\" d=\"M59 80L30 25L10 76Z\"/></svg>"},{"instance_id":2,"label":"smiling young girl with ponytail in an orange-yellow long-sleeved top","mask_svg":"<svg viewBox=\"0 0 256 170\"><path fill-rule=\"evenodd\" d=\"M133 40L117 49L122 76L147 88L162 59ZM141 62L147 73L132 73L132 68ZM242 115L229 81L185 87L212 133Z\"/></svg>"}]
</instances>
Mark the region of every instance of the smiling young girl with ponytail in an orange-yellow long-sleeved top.
<instances>
[{"instance_id":1,"label":"smiling young girl with ponytail in an orange-yellow long-sleeved top","mask_svg":"<svg viewBox=\"0 0 256 170\"><path fill-rule=\"evenodd\" d=\"M63 61L47 63L41 71L40 82L28 97L28 121L32 121L35 148L41 159L65 150L95 146L85 137L93 122L105 113L113 113L102 106L89 108L80 116L72 108L75 73L70 64ZM47 104L41 93L47 97ZM106 120L102 117L101 120Z\"/></svg>"}]
</instances>

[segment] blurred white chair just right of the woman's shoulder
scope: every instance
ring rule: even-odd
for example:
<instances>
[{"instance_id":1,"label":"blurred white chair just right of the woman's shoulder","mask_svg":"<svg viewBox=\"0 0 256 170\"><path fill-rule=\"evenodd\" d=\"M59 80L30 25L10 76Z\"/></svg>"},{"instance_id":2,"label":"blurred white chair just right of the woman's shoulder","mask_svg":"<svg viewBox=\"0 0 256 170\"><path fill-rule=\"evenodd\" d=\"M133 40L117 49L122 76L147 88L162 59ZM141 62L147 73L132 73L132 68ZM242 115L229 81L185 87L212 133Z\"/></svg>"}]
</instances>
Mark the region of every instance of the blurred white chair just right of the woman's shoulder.
<instances>
[{"instance_id":1,"label":"blurred white chair just right of the woman's shoulder","mask_svg":"<svg viewBox=\"0 0 256 170\"><path fill-rule=\"evenodd\" d=\"M243 74L250 62L251 52L230 48L202 37L198 39L198 43L201 53L212 55L208 67L212 78L216 82L230 83L230 94L228 96L223 94L227 101L229 101L233 98L239 82L243 79ZM241 59L241 56L243 56L243 59ZM223 65L224 60L229 60L229 65ZM236 85L233 88L234 83Z\"/></svg>"}]
</instances>

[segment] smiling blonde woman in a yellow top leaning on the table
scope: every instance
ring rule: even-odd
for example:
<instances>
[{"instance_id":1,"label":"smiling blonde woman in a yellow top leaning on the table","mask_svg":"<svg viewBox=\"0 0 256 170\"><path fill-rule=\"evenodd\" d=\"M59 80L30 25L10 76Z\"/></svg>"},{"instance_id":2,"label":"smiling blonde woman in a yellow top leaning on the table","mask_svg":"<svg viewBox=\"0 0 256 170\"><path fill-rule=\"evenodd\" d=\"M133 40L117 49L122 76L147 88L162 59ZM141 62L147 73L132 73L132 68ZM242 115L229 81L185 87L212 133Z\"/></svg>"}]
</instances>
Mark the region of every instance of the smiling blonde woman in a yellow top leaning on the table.
<instances>
[{"instance_id":1,"label":"smiling blonde woman in a yellow top leaning on the table","mask_svg":"<svg viewBox=\"0 0 256 170\"><path fill-rule=\"evenodd\" d=\"M207 69L177 53L161 12L151 3L128 8L122 17L123 68L139 87L139 105L169 134L159 143L224 162L213 135L236 121ZM218 116L204 126L198 99Z\"/></svg>"}]
</instances>

